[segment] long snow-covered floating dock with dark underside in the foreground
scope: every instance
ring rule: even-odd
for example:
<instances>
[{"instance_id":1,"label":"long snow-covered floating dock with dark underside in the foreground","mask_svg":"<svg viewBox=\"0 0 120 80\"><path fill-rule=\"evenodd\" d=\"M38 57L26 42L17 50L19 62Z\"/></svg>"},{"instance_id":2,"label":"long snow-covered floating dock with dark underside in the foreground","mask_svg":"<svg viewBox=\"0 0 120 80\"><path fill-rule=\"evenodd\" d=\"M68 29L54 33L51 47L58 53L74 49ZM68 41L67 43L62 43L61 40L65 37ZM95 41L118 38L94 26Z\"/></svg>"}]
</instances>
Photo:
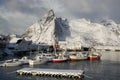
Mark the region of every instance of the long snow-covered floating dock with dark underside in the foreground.
<instances>
[{"instance_id":1,"label":"long snow-covered floating dock with dark underside in the foreground","mask_svg":"<svg viewBox=\"0 0 120 80\"><path fill-rule=\"evenodd\" d=\"M41 68L23 68L17 70L18 75L26 76L49 76L49 77L66 77L66 78L78 78L82 80L84 77L84 71L82 70L64 70L64 69L41 69Z\"/></svg>"}]
</instances>

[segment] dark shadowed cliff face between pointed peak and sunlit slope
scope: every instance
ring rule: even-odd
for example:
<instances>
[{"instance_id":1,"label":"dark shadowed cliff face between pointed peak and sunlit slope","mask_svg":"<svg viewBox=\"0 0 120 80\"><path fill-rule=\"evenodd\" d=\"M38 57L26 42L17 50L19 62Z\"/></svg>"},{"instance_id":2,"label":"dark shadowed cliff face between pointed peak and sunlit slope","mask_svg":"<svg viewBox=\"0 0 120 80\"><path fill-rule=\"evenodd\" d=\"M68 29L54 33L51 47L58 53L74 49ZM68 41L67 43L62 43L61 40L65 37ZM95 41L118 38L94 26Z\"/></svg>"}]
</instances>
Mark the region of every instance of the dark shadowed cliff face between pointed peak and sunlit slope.
<instances>
[{"instance_id":1,"label":"dark shadowed cliff face between pointed peak and sunlit slope","mask_svg":"<svg viewBox=\"0 0 120 80\"><path fill-rule=\"evenodd\" d=\"M55 19L55 35L58 41L66 41L71 36L70 26L67 19Z\"/></svg>"}]
</instances>

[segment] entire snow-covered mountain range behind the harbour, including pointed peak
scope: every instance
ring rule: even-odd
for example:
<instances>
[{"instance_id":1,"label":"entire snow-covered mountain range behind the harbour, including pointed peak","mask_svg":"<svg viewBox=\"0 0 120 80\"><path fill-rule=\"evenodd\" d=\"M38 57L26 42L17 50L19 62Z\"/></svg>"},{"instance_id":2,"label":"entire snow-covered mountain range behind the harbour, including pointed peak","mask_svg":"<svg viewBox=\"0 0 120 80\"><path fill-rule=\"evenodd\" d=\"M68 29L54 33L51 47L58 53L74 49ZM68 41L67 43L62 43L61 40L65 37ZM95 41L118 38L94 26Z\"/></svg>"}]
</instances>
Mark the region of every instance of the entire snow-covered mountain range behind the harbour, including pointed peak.
<instances>
[{"instance_id":1,"label":"entire snow-covered mountain range behind the harbour, including pointed peak","mask_svg":"<svg viewBox=\"0 0 120 80\"><path fill-rule=\"evenodd\" d=\"M23 37L33 43L53 44L65 41L68 46L120 45L120 25L112 20L93 23L86 19L70 20L55 17L53 10L30 26Z\"/></svg>"}]
</instances>

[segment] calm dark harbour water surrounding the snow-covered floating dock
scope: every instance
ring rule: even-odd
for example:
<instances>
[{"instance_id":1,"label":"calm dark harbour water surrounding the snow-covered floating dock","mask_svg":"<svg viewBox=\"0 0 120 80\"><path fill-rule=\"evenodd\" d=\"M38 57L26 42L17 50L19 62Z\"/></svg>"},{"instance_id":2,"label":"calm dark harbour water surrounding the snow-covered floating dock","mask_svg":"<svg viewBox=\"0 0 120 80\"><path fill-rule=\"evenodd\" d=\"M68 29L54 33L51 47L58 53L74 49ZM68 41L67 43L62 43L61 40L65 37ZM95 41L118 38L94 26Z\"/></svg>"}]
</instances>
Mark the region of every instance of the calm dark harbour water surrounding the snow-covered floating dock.
<instances>
[{"instance_id":1,"label":"calm dark harbour water surrounding the snow-covered floating dock","mask_svg":"<svg viewBox=\"0 0 120 80\"><path fill-rule=\"evenodd\" d=\"M25 66L0 68L0 80L72 80L68 78L17 76L15 71ZM104 52L100 61L47 63L37 68L84 70L84 80L120 80L120 52Z\"/></svg>"}]
</instances>

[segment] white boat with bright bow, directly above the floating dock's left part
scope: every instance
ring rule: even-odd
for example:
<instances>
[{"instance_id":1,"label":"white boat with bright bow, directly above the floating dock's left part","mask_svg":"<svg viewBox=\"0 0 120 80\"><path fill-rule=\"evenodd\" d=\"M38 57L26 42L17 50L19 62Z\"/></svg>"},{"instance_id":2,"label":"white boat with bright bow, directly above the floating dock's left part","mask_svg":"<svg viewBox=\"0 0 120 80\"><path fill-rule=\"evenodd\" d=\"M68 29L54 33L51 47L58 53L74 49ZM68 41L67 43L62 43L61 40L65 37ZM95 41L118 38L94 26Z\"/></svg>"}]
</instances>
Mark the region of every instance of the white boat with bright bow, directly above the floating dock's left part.
<instances>
[{"instance_id":1,"label":"white boat with bright bow, directly above the floating dock's left part","mask_svg":"<svg viewBox=\"0 0 120 80\"><path fill-rule=\"evenodd\" d=\"M36 56L34 59L29 60L29 65L44 64L47 63L48 59L41 56Z\"/></svg>"}]
</instances>

